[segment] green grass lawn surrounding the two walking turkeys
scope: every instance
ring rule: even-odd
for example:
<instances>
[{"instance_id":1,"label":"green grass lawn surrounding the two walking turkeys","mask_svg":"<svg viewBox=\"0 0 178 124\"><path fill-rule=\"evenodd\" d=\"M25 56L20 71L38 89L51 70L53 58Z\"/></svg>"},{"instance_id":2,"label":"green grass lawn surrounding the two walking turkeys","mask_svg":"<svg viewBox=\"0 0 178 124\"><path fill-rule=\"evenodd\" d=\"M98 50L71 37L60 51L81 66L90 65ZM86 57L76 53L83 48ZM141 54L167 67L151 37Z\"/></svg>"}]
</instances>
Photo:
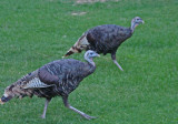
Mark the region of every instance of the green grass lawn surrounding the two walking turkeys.
<instances>
[{"instance_id":1,"label":"green grass lawn surrounding the two walking turkeys","mask_svg":"<svg viewBox=\"0 0 178 124\"><path fill-rule=\"evenodd\" d=\"M177 0L119 0L76 4L75 0L0 0L0 94L28 72L61 59L87 29L100 24L129 27L145 20L117 52L96 59L96 72L69 96L75 107L97 120L86 121L60 97L11 100L0 106L0 124L177 124ZM72 12L87 12L71 16ZM70 58L83 61L83 52Z\"/></svg>"}]
</instances>

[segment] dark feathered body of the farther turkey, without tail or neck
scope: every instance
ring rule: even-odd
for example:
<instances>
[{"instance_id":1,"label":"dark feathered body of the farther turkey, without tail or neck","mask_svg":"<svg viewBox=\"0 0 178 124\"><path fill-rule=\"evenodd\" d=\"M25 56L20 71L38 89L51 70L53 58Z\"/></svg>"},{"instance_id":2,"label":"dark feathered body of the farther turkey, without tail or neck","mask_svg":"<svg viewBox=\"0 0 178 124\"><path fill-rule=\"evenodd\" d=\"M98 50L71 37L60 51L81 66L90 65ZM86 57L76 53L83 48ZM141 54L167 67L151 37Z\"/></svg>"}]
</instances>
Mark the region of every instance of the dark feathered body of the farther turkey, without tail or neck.
<instances>
[{"instance_id":1,"label":"dark feathered body of the farther turkey, without tail or neck","mask_svg":"<svg viewBox=\"0 0 178 124\"><path fill-rule=\"evenodd\" d=\"M118 46L132 35L130 28L116 24L98 25L88 30L85 35L89 42L86 50L93 50L97 53L115 53Z\"/></svg>"}]
</instances>

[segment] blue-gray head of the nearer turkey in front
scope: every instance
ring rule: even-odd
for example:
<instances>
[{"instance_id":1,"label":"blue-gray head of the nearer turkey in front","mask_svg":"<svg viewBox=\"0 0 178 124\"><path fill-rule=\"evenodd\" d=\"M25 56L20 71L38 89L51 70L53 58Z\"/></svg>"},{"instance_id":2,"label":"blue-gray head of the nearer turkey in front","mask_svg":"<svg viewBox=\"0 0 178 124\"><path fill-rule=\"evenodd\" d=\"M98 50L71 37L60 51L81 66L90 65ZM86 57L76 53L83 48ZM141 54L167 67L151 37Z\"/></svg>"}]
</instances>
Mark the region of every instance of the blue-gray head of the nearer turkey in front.
<instances>
[{"instance_id":1,"label":"blue-gray head of the nearer turkey in front","mask_svg":"<svg viewBox=\"0 0 178 124\"><path fill-rule=\"evenodd\" d=\"M85 53L85 59L92 63L92 59L96 58L96 56L100 56L97 52L92 51L92 50L88 50L86 53Z\"/></svg>"}]
</instances>

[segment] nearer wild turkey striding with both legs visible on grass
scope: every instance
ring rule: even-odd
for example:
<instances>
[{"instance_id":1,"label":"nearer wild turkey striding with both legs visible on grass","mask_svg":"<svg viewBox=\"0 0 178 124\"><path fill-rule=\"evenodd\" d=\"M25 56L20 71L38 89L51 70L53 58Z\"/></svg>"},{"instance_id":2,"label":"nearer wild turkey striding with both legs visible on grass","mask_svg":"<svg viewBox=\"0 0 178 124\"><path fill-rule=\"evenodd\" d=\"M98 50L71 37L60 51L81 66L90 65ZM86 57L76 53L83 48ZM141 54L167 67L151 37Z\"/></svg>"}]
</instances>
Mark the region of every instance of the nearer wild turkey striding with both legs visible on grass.
<instances>
[{"instance_id":1,"label":"nearer wild turkey striding with both legs visible on grass","mask_svg":"<svg viewBox=\"0 0 178 124\"><path fill-rule=\"evenodd\" d=\"M87 63L73 59L50 62L8 86L4 90L0 103L3 104L14 96L32 97L37 95L39 97L46 97L44 110L41 116L44 118L48 103L52 97L58 95L62 97L66 107L79 113L87 120L95 118L95 116L89 116L68 103L69 94L86 76L95 72L96 65L92 61L95 56L99 56L99 54L89 50L85 53Z\"/></svg>"}]
</instances>

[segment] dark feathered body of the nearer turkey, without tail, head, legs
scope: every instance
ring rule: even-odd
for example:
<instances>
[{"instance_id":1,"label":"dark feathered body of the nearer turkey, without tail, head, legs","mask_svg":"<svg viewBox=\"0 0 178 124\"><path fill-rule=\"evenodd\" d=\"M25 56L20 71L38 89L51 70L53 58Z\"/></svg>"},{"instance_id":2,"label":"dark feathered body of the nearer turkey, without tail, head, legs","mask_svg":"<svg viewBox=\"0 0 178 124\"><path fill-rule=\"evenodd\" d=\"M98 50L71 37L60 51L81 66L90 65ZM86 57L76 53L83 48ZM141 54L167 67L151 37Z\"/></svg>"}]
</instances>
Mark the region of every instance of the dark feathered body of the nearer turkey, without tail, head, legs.
<instances>
[{"instance_id":1,"label":"dark feathered body of the nearer turkey, without tail, head, legs","mask_svg":"<svg viewBox=\"0 0 178 124\"><path fill-rule=\"evenodd\" d=\"M32 73L27 74L19 82L23 84L26 90L31 90L39 97L51 99L57 95L69 95L79 83L95 71L96 66L73 59L58 60L50 62ZM38 79L38 80L34 80ZM39 87L39 82L46 84ZM29 85L32 83L32 86Z\"/></svg>"}]
</instances>

